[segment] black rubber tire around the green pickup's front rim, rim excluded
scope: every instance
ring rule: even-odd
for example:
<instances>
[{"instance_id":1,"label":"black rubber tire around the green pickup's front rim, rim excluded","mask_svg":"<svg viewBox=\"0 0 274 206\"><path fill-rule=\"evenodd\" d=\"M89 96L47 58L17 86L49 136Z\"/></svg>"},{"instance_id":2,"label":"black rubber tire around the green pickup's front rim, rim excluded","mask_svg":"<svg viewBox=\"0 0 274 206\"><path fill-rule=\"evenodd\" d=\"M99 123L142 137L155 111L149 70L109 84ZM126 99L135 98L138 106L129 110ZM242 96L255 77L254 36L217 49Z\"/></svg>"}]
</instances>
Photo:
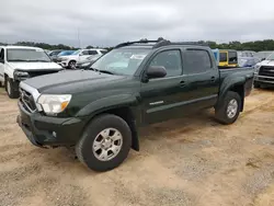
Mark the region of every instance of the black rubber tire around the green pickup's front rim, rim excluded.
<instances>
[{"instance_id":1,"label":"black rubber tire around the green pickup's front rim, rim excluded","mask_svg":"<svg viewBox=\"0 0 274 206\"><path fill-rule=\"evenodd\" d=\"M123 136L123 145L119 152L109 161L99 160L93 153L93 141L96 136L106 128L115 128ZM118 167L128 156L132 147L132 131L127 123L111 114L95 117L85 128L83 135L76 146L78 159L94 171L104 172Z\"/></svg>"}]
</instances>

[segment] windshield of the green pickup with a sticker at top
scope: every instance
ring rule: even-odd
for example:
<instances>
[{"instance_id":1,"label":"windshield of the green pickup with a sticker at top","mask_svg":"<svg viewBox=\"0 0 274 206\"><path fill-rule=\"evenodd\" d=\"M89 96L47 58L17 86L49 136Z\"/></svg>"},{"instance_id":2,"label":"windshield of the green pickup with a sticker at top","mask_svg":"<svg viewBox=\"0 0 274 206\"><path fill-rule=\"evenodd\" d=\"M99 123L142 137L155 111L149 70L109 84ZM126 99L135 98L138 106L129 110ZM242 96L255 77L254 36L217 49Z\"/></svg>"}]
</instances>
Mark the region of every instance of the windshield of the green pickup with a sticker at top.
<instances>
[{"instance_id":1,"label":"windshield of the green pickup with a sticker at top","mask_svg":"<svg viewBox=\"0 0 274 206\"><path fill-rule=\"evenodd\" d=\"M114 49L96 60L92 68L115 75L133 76L149 52L144 48Z\"/></svg>"}]
</instances>

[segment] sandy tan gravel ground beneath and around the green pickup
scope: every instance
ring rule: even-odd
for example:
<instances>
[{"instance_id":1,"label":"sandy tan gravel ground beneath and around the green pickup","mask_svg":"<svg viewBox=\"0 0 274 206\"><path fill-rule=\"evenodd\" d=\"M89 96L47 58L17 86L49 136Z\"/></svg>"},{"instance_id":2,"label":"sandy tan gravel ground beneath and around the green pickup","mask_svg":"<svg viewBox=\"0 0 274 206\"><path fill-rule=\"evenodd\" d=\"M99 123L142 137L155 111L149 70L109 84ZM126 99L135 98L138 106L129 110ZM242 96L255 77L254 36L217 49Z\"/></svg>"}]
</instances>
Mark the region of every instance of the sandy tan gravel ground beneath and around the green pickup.
<instances>
[{"instance_id":1,"label":"sandy tan gravel ground beneath and around the green pickup","mask_svg":"<svg viewBox=\"0 0 274 206\"><path fill-rule=\"evenodd\" d=\"M0 206L274 205L274 93L254 90L231 126L213 111L142 128L140 152L96 173L32 146L0 89Z\"/></svg>"}]
</instances>

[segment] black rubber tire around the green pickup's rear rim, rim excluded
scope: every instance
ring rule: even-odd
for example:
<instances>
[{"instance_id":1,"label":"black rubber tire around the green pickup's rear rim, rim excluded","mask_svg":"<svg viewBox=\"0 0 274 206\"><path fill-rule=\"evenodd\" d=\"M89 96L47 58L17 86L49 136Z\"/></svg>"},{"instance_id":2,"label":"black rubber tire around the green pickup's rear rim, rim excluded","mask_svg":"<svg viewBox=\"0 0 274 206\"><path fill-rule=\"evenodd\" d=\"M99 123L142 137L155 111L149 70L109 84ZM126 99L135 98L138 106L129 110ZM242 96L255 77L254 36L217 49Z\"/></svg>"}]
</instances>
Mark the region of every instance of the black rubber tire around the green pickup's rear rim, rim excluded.
<instances>
[{"instance_id":1,"label":"black rubber tire around the green pickup's rear rim, rim excluded","mask_svg":"<svg viewBox=\"0 0 274 206\"><path fill-rule=\"evenodd\" d=\"M227 111L228 111L228 105L229 105L230 101L232 101L232 100L237 101L238 107L237 107L236 114L232 117L229 117ZM220 104L218 104L218 106L216 106L215 117L217 118L217 121L219 121L224 125L232 124L237 121L237 118L240 114L241 104L242 104L242 102L241 102L240 95L236 92L228 91L227 95L225 96L222 102Z\"/></svg>"}]
</instances>

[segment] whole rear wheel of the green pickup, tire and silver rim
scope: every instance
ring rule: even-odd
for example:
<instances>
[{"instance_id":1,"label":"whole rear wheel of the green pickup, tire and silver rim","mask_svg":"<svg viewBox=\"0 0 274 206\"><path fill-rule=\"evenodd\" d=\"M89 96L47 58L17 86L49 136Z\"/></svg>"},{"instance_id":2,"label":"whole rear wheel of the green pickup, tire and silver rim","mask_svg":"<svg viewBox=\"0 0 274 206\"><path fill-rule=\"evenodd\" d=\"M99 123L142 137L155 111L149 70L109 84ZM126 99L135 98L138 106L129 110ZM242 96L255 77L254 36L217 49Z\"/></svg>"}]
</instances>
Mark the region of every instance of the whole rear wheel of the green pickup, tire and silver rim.
<instances>
[{"instance_id":1,"label":"whole rear wheel of the green pickup, tire and silver rim","mask_svg":"<svg viewBox=\"0 0 274 206\"><path fill-rule=\"evenodd\" d=\"M222 100L222 102L216 106L216 118L225 124L229 125L237 121L241 108L241 98L238 93L229 91Z\"/></svg>"}]
</instances>

